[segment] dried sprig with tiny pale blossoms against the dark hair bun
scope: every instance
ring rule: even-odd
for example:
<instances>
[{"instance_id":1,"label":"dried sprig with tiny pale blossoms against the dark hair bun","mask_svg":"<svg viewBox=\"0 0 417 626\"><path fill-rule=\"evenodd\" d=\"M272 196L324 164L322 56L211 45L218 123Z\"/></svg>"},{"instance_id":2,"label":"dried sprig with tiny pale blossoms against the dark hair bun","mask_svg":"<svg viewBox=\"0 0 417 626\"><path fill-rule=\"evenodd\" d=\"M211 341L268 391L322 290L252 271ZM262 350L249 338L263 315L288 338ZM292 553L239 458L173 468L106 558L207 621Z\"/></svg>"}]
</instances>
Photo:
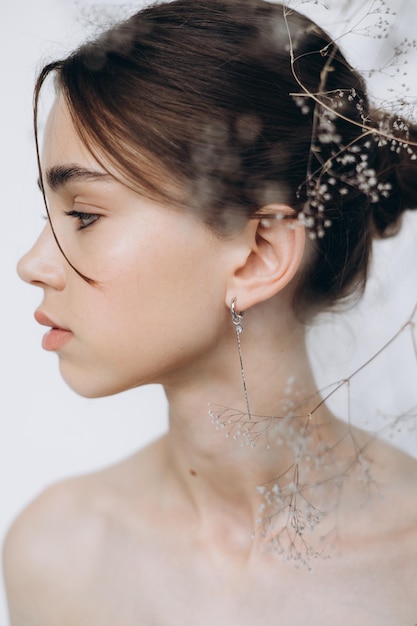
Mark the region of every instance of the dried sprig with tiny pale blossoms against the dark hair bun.
<instances>
[{"instance_id":1,"label":"dried sprig with tiny pale blossoms against the dark hair bun","mask_svg":"<svg viewBox=\"0 0 417 626\"><path fill-rule=\"evenodd\" d=\"M306 180L299 189L298 197L306 198L303 209L298 218L308 231L311 239L323 238L326 229L333 223L338 197L340 200L348 194L360 192L368 198L371 204L377 204L381 199L389 197L392 185L385 179L380 179L373 166L373 160L378 148L390 144L393 152L405 150L410 160L416 158L416 144L410 141L407 128L400 128L385 116L379 127L369 120L369 113L355 89L328 89L328 78L333 71L333 62L337 53L337 37L327 44L320 54L326 57L326 63L321 71L320 84L317 92L312 92L301 80L297 72L297 63L302 55L297 56L297 42L292 40L288 16L291 9L284 10L289 37L289 54L293 76L301 88L301 92L294 93L293 99L303 115L312 114L313 127L311 136L310 156L306 172ZM375 1L367 12L367 17L373 16L373 26L379 32L379 37L386 37L389 32L389 17L394 12L383 0ZM360 17L350 32L359 32L364 17ZM365 31L368 32L369 26ZM346 33L345 33L346 34ZM340 37L339 37L340 38ZM412 46L412 42L405 41L404 46L397 46L394 58L398 61L402 50ZM399 67L395 68L399 73ZM349 116L347 111L354 110L355 115ZM337 123L343 121L352 128L357 127L356 138L346 142L338 131Z\"/></svg>"}]
</instances>

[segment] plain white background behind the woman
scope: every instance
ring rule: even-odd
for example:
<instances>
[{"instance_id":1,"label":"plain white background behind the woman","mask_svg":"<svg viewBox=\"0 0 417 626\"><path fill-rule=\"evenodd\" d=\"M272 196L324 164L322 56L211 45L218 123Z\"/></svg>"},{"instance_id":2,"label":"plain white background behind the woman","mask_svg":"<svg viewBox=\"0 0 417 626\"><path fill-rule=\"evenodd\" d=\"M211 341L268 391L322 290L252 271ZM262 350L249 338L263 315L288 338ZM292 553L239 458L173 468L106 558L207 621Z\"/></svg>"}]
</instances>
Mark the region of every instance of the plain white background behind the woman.
<instances>
[{"instance_id":1,"label":"plain white background behind the woman","mask_svg":"<svg viewBox=\"0 0 417 626\"><path fill-rule=\"evenodd\" d=\"M332 21L339 24L334 16L345 3L333 0L332 12L317 6L312 12L331 30ZM391 4L397 8L401 2ZM401 5L392 37L406 35L407 29L413 36L414 4L411 0ZM83 39L82 14L72 0L0 0L0 542L18 511L46 485L113 463L166 428L165 398L157 387L85 400L65 386L55 356L40 349L43 331L32 316L41 294L20 283L15 273L19 256L42 227L31 126L34 76L43 61ZM378 62L387 57L392 37L387 42L349 39L345 49L354 64L371 66L376 57ZM412 88L417 85L415 56L409 57L407 80ZM386 79L377 87L385 90ZM374 269L362 305L353 314L325 320L312 334L320 386L354 371L411 312L417 301L417 215L407 220L400 238L378 246ZM332 406L346 417L344 394L333 398ZM409 333L353 379L352 396L352 419L371 429L416 404L417 367ZM417 435L414 422L410 424L411 428L390 429L384 436L417 456ZM7 618L0 596L3 624Z\"/></svg>"}]
</instances>

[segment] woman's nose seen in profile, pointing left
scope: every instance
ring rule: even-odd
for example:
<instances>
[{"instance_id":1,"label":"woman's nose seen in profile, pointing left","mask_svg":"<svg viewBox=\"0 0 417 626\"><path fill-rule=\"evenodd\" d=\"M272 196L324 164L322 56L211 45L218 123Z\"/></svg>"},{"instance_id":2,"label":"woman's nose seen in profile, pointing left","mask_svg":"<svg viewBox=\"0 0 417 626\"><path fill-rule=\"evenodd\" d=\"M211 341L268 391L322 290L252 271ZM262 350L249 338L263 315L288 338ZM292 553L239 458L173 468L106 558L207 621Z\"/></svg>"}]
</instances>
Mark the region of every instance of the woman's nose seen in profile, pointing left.
<instances>
[{"instance_id":1,"label":"woman's nose seen in profile, pointing left","mask_svg":"<svg viewBox=\"0 0 417 626\"><path fill-rule=\"evenodd\" d=\"M46 224L33 247L18 262L17 273L31 285L49 286L57 290L64 288L64 258L49 224Z\"/></svg>"}]
</instances>

